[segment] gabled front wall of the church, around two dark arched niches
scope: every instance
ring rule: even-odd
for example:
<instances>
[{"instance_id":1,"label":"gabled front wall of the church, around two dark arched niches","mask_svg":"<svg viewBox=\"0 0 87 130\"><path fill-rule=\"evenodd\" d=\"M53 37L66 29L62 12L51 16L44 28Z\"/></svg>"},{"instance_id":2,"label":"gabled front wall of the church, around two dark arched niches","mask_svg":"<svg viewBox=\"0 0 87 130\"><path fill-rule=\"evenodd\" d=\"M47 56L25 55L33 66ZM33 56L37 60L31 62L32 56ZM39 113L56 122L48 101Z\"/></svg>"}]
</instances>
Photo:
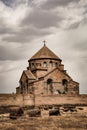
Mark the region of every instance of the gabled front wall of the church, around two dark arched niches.
<instances>
[{"instance_id":1,"label":"gabled front wall of the church, around two dark arched niches","mask_svg":"<svg viewBox=\"0 0 87 130\"><path fill-rule=\"evenodd\" d=\"M52 79L53 81L53 94L58 93L58 90L60 91L60 93L65 92L68 94L79 94L79 84L71 80L71 78L67 74L62 73L59 69L50 72L44 77L44 79L39 79L37 82L34 83L35 94L50 94L50 87L47 86L48 79ZM62 81L64 79L68 82L67 91L65 91L65 86L62 84Z\"/></svg>"}]
</instances>

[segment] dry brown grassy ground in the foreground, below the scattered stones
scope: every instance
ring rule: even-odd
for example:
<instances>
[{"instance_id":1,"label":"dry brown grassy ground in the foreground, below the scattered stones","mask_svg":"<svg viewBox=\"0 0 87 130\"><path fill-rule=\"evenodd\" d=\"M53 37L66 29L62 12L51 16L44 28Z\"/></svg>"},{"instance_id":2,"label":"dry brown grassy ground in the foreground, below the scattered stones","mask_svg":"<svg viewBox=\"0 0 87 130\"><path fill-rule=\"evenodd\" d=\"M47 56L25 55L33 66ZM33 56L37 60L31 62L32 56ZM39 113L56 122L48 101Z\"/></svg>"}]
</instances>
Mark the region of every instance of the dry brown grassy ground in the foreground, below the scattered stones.
<instances>
[{"instance_id":1,"label":"dry brown grassy ground in the foreground, below the scattered stones","mask_svg":"<svg viewBox=\"0 0 87 130\"><path fill-rule=\"evenodd\" d=\"M0 119L0 130L87 130L87 115Z\"/></svg>"}]
</instances>

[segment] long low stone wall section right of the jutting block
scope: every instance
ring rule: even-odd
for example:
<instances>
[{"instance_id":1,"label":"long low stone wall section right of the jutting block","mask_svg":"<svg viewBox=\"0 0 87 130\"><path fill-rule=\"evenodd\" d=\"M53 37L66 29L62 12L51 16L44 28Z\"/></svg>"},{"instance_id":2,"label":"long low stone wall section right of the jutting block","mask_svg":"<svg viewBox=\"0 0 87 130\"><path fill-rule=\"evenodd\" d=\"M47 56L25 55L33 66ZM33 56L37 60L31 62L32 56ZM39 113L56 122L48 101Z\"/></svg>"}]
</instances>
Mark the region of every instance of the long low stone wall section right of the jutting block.
<instances>
[{"instance_id":1,"label":"long low stone wall section right of the jutting block","mask_svg":"<svg viewBox=\"0 0 87 130\"><path fill-rule=\"evenodd\" d=\"M35 97L35 105L87 105L87 95L49 95Z\"/></svg>"}]
</instances>

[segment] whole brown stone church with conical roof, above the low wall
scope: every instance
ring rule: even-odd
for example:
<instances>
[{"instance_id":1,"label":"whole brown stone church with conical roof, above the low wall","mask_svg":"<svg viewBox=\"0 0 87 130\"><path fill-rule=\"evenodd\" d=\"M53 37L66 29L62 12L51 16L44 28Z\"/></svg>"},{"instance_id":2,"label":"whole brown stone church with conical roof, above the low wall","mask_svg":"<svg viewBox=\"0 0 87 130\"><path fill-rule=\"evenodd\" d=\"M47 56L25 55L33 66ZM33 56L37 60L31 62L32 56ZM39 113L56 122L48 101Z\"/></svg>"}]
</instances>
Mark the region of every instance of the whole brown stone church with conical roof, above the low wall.
<instances>
[{"instance_id":1,"label":"whole brown stone church with conical roof, above the low wall","mask_svg":"<svg viewBox=\"0 0 87 130\"><path fill-rule=\"evenodd\" d=\"M62 60L45 44L28 60L29 66L19 80L17 94L78 95L79 83L64 69Z\"/></svg>"}]
</instances>

